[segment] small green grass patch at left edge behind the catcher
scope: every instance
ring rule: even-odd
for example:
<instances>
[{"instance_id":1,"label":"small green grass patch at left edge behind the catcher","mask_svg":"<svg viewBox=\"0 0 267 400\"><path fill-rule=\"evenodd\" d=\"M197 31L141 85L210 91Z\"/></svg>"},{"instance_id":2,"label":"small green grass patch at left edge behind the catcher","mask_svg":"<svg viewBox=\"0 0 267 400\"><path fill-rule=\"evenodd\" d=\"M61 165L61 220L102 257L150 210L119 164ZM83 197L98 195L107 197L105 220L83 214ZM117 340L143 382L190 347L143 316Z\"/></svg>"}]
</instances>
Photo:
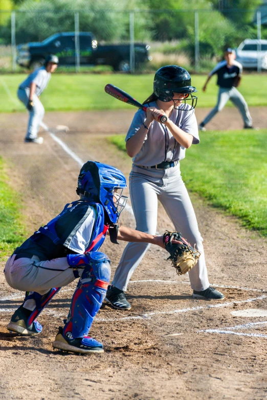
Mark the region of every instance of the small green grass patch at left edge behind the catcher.
<instances>
[{"instance_id":1,"label":"small green grass patch at left edge behind the catcher","mask_svg":"<svg viewBox=\"0 0 267 400\"><path fill-rule=\"evenodd\" d=\"M7 184L5 165L0 158L0 259L13 253L26 238L20 214L19 195Z\"/></svg>"}]
</instances>

